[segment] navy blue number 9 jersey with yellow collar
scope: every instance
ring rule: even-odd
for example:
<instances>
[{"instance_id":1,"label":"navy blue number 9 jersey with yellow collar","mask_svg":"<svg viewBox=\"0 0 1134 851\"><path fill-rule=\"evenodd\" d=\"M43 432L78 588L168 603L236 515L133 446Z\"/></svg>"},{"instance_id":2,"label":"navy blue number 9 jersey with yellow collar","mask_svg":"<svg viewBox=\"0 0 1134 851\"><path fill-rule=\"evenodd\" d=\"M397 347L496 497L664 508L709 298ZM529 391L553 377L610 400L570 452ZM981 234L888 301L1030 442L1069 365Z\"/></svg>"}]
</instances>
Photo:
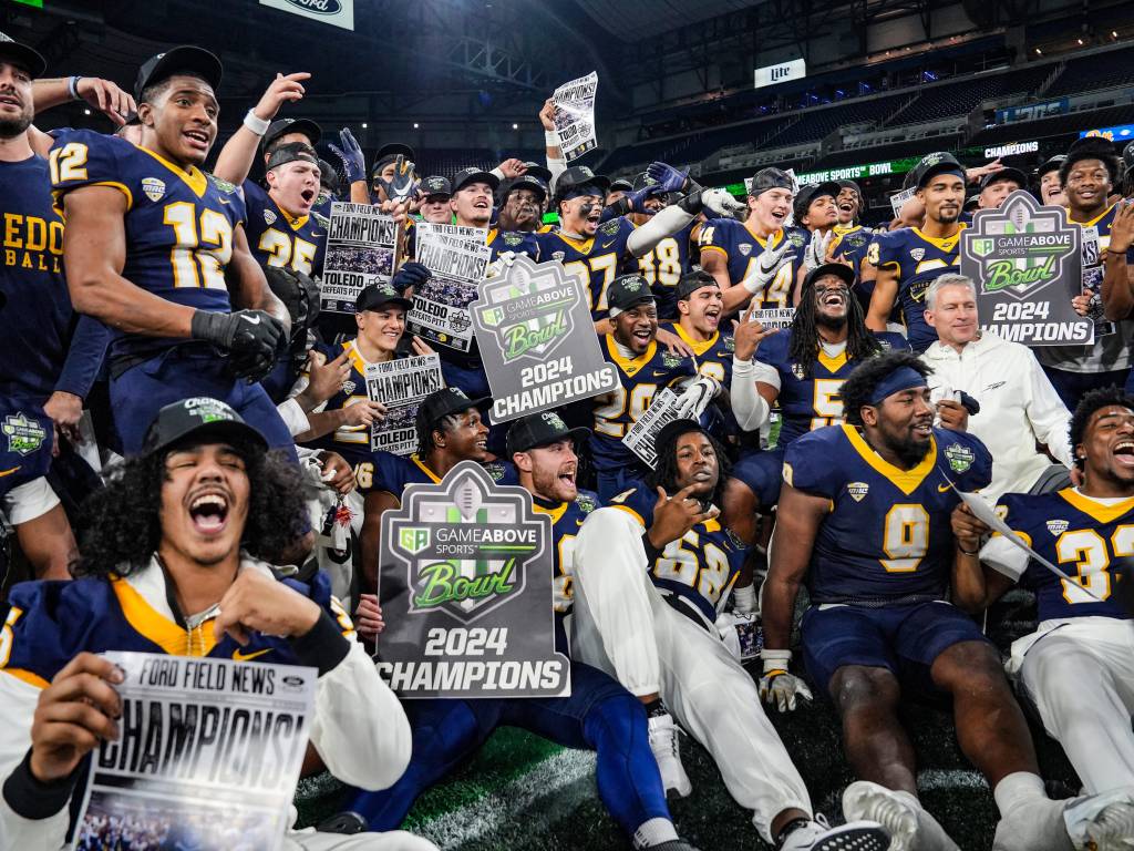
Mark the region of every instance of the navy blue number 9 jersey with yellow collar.
<instances>
[{"instance_id":1,"label":"navy blue number 9 jersey with yellow collar","mask_svg":"<svg viewBox=\"0 0 1134 851\"><path fill-rule=\"evenodd\" d=\"M979 490L991 473L984 444L963 431L933 429L913 470L886 462L853 426L795 440L784 481L829 500L811 554L812 603L940 598L953 568L949 515L960 500L948 482Z\"/></svg>"}]
</instances>

